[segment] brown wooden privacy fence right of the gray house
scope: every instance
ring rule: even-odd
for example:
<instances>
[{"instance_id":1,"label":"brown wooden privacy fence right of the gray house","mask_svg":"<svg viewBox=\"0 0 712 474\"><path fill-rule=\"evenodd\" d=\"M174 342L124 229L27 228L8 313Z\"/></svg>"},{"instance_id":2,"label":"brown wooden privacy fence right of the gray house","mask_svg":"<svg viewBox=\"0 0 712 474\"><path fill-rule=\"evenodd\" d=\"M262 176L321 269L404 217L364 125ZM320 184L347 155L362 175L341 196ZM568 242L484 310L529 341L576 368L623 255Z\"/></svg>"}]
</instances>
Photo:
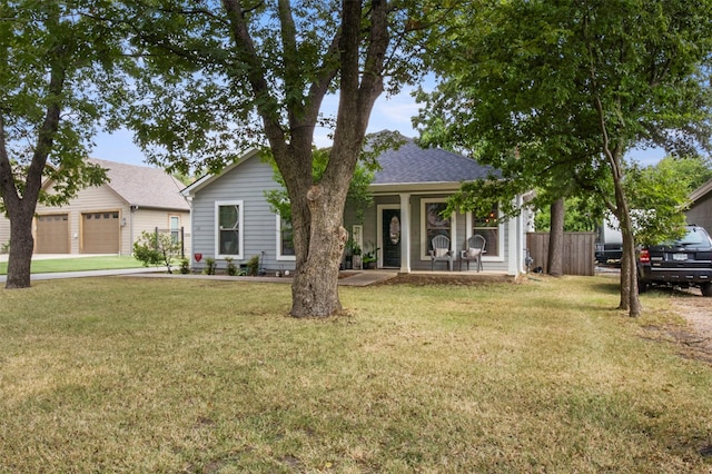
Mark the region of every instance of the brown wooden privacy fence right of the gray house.
<instances>
[{"instance_id":1,"label":"brown wooden privacy fence right of the gray house","mask_svg":"<svg viewBox=\"0 0 712 474\"><path fill-rule=\"evenodd\" d=\"M595 269L595 233L564 233L564 255L562 257L564 275L593 276ZM527 233L526 248L534 259L532 270L542 267L548 271L548 233Z\"/></svg>"}]
</instances>

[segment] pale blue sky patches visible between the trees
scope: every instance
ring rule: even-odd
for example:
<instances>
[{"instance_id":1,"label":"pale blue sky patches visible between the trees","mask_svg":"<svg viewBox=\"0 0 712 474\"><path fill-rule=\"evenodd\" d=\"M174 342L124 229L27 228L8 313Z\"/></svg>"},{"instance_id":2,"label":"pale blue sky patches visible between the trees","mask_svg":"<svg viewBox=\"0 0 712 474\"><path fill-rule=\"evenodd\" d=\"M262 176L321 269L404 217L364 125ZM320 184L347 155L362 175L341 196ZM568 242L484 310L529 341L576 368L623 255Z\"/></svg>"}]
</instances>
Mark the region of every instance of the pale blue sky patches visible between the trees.
<instances>
[{"instance_id":1,"label":"pale blue sky patches visible between the trees","mask_svg":"<svg viewBox=\"0 0 712 474\"><path fill-rule=\"evenodd\" d=\"M417 131L413 128L411 118L418 112L418 103L412 96L414 88L404 88L397 96L386 97L382 95L370 115L367 132L380 130L399 131L405 137L417 137ZM328 96L324 99L323 110L336 110L338 98ZM329 145L327 135L329 130L317 129L315 131L315 142L318 147ZM92 158L109 161L119 161L129 165L148 166L144 162L144 154L134 145L132 134L128 130L119 130L111 135L101 134L95 138L96 147L91 151ZM641 165L654 165L664 157L661 149L632 150L629 158L639 161Z\"/></svg>"}]
</instances>

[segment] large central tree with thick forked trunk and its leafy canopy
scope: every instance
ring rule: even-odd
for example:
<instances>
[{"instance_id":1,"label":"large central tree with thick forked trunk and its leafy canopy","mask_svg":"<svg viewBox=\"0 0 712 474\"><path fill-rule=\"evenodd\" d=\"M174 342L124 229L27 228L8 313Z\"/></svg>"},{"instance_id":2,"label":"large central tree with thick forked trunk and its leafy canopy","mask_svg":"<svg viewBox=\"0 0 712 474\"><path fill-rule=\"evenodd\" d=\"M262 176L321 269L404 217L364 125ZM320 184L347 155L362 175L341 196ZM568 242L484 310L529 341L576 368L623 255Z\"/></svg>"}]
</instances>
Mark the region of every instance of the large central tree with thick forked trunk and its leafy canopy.
<instances>
[{"instance_id":1,"label":"large central tree with thick forked trunk and its leafy canopy","mask_svg":"<svg viewBox=\"0 0 712 474\"><path fill-rule=\"evenodd\" d=\"M294 316L340 310L344 203L376 98L421 73L407 60L416 2L127 0L140 60L129 126L169 170L218 171L269 148L294 226ZM322 102L338 92L335 117ZM333 146L314 174L314 130Z\"/></svg>"}]
</instances>

